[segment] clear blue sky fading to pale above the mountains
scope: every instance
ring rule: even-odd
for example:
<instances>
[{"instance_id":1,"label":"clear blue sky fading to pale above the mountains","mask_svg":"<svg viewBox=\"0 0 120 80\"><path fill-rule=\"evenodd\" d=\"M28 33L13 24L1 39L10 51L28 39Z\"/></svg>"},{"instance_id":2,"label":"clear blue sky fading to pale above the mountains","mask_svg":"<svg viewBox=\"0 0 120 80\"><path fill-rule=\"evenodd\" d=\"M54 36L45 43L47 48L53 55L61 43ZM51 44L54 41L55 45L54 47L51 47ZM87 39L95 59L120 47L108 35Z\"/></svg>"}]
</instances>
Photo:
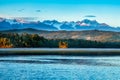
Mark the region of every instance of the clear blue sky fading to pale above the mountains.
<instances>
[{"instance_id":1,"label":"clear blue sky fading to pale above the mountains","mask_svg":"<svg viewBox=\"0 0 120 80\"><path fill-rule=\"evenodd\" d=\"M0 0L0 17L30 20L97 20L120 26L120 0Z\"/></svg>"}]
</instances>

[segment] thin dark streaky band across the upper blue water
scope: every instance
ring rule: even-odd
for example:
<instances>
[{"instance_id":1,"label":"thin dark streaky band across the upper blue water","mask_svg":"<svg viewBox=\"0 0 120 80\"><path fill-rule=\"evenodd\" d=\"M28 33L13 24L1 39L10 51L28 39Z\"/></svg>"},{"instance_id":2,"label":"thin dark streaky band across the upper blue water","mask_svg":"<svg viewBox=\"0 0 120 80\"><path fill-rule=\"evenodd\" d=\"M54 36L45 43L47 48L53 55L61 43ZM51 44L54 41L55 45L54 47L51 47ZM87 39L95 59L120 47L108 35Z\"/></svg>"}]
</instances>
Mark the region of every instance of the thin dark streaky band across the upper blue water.
<instances>
[{"instance_id":1,"label":"thin dark streaky band across the upper blue water","mask_svg":"<svg viewBox=\"0 0 120 80\"><path fill-rule=\"evenodd\" d=\"M36 58L37 59L37 58ZM111 61L111 59L108 59ZM114 64L110 62L105 62L103 59L37 59L37 60L0 60L0 62L9 62L9 63L27 63L27 64L67 64L67 65L88 65L88 66L118 66L119 64Z\"/></svg>"}]
</instances>

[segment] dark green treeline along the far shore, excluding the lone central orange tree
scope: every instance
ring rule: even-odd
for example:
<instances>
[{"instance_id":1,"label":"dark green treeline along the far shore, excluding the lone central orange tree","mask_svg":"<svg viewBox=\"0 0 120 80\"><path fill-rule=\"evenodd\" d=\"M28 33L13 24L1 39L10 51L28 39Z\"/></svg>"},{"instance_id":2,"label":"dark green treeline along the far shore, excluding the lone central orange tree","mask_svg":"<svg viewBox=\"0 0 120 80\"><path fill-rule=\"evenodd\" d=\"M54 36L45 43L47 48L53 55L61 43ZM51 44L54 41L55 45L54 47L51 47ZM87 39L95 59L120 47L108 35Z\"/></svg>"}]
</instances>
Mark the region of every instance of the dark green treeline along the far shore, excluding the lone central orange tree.
<instances>
[{"instance_id":1,"label":"dark green treeline along the far shore, excluding the lone central orange tree","mask_svg":"<svg viewBox=\"0 0 120 80\"><path fill-rule=\"evenodd\" d=\"M120 48L119 42L97 42L82 39L45 39L38 34L0 33L0 48L58 48L59 42L68 48Z\"/></svg>"}]
</instances>

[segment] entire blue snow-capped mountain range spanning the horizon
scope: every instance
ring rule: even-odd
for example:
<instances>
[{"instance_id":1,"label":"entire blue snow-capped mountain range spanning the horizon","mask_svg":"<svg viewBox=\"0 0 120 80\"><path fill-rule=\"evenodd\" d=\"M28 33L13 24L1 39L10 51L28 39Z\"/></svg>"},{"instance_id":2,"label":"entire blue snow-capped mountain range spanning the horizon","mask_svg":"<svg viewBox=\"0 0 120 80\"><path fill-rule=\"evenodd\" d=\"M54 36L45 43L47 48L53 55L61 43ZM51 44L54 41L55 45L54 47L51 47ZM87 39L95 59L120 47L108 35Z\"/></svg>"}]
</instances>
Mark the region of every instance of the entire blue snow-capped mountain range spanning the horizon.
<instances>
[{"instance_id":1,"label":"entire blue snow-capped mountain range spanning the horizon","mask_svg":"<svg viewBox=\"0 0 120 80\"><path fill-rule=\"evenodd\" d=\"M120 32L120 27L112 27L105 23L99 23L96 20L84 19L82 21L63 21L57 20L45 20L43 22L29 22L19 19L5 19L0 18L0 30L12 30L12 29L26 29L33 28L37 30L48 30L48 31L83 31L83 30L102 30L102 31L115 31Z\"/></svg>"}]
</instances>

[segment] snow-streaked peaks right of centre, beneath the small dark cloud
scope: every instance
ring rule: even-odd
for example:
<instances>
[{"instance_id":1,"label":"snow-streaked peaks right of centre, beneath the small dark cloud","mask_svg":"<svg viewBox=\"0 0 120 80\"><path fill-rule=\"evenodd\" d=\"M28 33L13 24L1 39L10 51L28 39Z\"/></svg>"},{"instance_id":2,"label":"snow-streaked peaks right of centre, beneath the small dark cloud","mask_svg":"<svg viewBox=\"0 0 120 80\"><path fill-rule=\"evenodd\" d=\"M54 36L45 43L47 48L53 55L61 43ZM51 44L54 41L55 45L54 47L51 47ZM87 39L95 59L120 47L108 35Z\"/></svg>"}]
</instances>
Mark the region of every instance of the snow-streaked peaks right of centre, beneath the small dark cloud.
<instances>
[{"instance_id":1,"label":"snow-streaked peaks right of centre, beneath the small dark cloud","mask_svg":"<svg viewBox=\"0 0 120 80\"><path fill-rule=\"evenodd\" d=\"M50 26L54 26L56 27L58 30L62 30L62 29L77 29L80 27L100 27L100 26L108 26L107 24L101 24L98 23L96 20L89 20L89 19L84 19L82 21L63 21L63 22L58 22L56 20L45 20L43 21L44 24L46 25L50 25Z\"/></svg>"}]
</instances>

